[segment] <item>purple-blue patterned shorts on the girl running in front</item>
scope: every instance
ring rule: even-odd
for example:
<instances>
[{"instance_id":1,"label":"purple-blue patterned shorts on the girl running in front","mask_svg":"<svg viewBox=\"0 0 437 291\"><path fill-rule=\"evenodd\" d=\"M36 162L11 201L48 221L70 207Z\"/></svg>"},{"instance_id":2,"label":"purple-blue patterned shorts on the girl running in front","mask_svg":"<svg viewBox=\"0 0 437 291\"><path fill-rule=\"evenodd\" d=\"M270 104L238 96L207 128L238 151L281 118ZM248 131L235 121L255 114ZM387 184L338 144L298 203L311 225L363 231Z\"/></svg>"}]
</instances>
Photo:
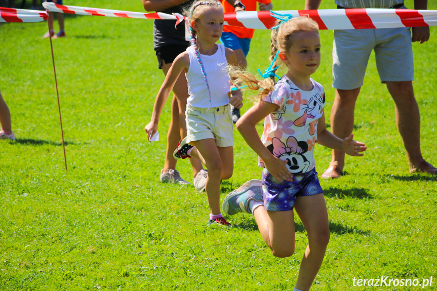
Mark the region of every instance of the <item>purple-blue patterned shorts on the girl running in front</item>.
<instances>
[{"instance_id":1,"label":"purple-blue patterned shorts on the girl running in front","mask_svg":"<svg viewBox=\"0 0 437 291\"><path fill-rule=\"evenodd\" d=\"M315 168L303 174L293 174L293 181L277 181L267 169L262 171L264 208L268 211L293 210L296 197L323 193Z\"/></svg>"}]
</instances>

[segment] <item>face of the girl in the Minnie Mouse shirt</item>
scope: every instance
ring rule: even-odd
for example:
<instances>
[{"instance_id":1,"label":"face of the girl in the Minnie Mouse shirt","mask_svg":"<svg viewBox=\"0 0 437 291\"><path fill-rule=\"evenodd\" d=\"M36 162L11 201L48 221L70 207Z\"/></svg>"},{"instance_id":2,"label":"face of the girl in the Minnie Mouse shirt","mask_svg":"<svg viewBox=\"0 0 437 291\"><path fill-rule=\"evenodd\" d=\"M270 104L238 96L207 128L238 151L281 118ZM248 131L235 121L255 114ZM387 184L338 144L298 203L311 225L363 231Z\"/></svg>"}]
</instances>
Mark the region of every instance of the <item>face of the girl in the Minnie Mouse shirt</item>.
<instances>
[{"instance_id":1,"label":"face of the girl in the Minnie Mouse shirt","mask_svg":"<svg viewBox=\"0 0 437 291\"><path fill-rule=\"evenodd\" d=\"M292 39L293 45L281 60L287 64L289 73L297 78L309 78L320 66L320 36L317 31L300 31Z\"/></svg>"}]
</instances>

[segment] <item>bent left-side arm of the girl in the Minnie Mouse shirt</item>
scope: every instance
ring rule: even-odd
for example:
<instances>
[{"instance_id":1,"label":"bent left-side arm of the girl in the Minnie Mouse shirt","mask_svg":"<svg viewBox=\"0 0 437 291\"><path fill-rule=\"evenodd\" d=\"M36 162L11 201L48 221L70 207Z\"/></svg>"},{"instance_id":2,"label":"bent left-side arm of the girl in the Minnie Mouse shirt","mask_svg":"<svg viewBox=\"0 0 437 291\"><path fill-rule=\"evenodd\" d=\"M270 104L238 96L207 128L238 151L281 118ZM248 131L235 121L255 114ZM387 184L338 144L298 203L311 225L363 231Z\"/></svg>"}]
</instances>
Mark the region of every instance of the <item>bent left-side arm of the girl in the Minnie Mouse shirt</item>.
<instances>
[{"instance_id":1,"label":"bent left-side arm of the girl in the Minnie Mouse shirt","mask_svg":"<svg viewBox=\"0 0 437 291\"><path fill-rule=\"evenodd\" d=\"M277 109L277 105L265 101L252 106L237 122L236 128L247 144L261 157L265 167L273 177L282 182L283 180L292 181L293 175L285 167L286 161L275 157L261 142L256 131L258 124L265 116Z\"/></svg>"}]
</instances>

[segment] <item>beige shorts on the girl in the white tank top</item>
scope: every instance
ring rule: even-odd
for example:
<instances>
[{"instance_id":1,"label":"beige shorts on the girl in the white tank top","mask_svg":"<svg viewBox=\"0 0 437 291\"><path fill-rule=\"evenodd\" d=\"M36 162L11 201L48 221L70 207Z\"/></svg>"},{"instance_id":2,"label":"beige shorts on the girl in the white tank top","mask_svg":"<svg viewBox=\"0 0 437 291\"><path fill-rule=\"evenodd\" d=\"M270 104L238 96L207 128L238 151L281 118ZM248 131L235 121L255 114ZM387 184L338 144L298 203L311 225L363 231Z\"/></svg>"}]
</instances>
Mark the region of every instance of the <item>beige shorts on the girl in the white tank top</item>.
<instances>
[{"instance_id":1,"label":"beige shorts on the girl in the white tank top","mask_svg":"<svg viewBox=\"0 0 437 291\"><path fill-rule=\"evenodd\" d=\"M198 108L187 104L187 143L215 139L219 147L233 146L233 122L229 104Z\"/></svg>"}]
</instances>

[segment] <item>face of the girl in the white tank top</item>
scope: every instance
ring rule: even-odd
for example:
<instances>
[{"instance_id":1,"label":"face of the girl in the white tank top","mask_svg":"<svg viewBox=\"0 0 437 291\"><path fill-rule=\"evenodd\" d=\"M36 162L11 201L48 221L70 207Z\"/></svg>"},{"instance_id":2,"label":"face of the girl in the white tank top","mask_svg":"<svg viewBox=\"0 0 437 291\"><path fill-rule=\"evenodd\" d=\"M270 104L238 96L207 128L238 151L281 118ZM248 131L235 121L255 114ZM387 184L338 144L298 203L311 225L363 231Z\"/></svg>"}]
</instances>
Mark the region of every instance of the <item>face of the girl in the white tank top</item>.
<instances>
[{"instance_id":1,"label":"face of the girl in the white tank top","mask_svg":"<svg viewBox=\"0 0 437 291\"><path fill-rule=\"evenodd\" d=\"M215 44L223 32L224 13L221 7L203 7L202 15L191 22L197 40Z\"/></svg>"}]
</instances>

